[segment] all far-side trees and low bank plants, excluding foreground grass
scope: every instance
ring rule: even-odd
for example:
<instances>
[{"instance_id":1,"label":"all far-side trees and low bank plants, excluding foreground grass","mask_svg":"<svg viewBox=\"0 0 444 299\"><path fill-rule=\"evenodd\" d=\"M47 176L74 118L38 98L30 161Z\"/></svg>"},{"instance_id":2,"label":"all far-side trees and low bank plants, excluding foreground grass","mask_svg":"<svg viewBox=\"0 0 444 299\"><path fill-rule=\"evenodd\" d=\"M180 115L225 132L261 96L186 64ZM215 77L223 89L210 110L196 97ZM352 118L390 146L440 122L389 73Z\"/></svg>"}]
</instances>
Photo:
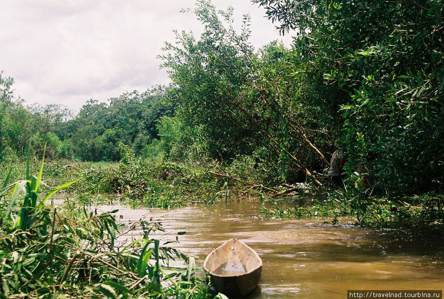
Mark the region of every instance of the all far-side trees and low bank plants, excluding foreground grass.
<instances>
[{"instance_id":1,"label":"all far-side trees and low bank plants, excluding foreground grass","mask_svg":"<svg viewBox=\"0 0 444 299\"><path fill-rule=\"evenodd\" d=\"M25 107L1 75L2 164L28 146L41 156L47 143L48 158L76 161L48 164L54 179L81 176L70 188L86 201L117 192L131 205L173 208L275 199L305 183L315 204L289 195L296 209L278 214L442 223L443 0L252 2L281 33L296 29L291 48L254 49L248 16L236 30L231 9L198 0L200 37L177 31L159 56L170 86L89 100L74 117ZM335 189L327 172L337 149L346 162ZM378 158L359 173L370 151Z\"/></svg>"}]
</instances>

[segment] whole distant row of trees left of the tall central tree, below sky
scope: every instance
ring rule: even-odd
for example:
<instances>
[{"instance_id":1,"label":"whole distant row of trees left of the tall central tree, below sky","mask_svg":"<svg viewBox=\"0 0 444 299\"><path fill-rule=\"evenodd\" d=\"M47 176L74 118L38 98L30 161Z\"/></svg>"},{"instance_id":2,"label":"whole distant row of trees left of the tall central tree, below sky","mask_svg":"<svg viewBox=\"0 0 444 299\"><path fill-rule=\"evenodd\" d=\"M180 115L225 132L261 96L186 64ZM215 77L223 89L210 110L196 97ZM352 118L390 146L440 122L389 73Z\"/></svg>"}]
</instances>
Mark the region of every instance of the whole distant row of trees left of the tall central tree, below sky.
<instances>
[{"instance_id":1,"label":"whole distant row of trees left of the tall central tree, below sky","mask_svg":"<svg viewBox=\"0 0 444 299\"><path fill-rule=\"evenodd\" d=\"M119 143L129 144L138 154L148 152L158 135L162 117L173 115L175 101L166 87L143 93L126 92L109 104L89 100L72 117L60 105L25 106L12 93L12 78L0 74L0 161L23 157L28 146L41 156L82 161L118 161Z\"/></svg>"}]
</instances>

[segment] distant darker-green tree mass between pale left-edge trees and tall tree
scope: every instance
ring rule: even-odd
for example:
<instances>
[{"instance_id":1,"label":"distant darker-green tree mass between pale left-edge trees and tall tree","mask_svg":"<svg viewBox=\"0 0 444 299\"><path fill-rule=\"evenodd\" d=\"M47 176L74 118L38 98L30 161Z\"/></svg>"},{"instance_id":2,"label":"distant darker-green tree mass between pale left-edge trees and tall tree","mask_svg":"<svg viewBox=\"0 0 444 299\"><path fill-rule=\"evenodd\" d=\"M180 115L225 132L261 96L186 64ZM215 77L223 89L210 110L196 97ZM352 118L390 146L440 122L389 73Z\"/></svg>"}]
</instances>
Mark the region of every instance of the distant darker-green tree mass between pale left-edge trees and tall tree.
<instances>
[{"instance_id":1,"label":"distant darker-green tree mass between pale left-edge trees and tall tree","mask_svg":"<svg viewBox=\"0 0 444 299\"><path fill-rule=\"evenodd\" d=\"M59 137L69 141L75 158L117 161L119 142L142 153L158 137L156 125L160 118L172 115L174 109L165 87L127 92L109 102L89 100L74 119L64 123Z\"/></svg>"}]
</instances>

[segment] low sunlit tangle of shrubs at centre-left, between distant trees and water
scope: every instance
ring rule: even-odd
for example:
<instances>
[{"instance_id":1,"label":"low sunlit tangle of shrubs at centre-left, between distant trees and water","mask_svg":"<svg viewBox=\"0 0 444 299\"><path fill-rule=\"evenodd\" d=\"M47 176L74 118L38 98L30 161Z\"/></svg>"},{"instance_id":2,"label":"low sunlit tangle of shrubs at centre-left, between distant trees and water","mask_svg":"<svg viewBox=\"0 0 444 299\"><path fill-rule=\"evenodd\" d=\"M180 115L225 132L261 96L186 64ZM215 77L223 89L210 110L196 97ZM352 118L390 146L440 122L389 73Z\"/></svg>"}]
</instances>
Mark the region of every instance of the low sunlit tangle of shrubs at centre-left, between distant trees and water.
<instances>
[{"instance_id":1,"label":"low sunlit tangle of shrubs at centre-left, between distant trees and water","mask_svg":"<svg viewBox=\"0 0 444 299\"><path fill-rule=\"evenodd\" d=\"M120 145L122 159L119 163L93 166L79 165L83 179L72 187L83 197L94 198L99 193L119 194L120 202L131 206L151 208L176 208L184 204L211 204L215 200L238 198L244 192L246 181L222 175L223 169L216 162L155 162L136 157L129 146ZM209 169L213 171L210 172ZM227 169L224 169L227 170ZM219 171L219 172L218 172ZM239 176L236 172L232 176ZM227 189L228 182L230 188ZM251 183L250 183L251 184ZM252 184L251 184L252 185Z\"/></svg>"}]
</instances>

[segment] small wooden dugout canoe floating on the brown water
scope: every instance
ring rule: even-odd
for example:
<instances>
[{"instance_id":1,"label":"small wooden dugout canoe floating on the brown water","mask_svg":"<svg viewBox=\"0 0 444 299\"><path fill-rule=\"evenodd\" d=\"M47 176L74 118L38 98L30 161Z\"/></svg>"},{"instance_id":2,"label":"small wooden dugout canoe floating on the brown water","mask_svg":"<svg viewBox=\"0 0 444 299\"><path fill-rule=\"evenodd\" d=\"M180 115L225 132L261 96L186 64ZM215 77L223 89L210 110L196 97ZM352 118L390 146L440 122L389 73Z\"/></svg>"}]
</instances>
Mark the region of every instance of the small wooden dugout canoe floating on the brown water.
<instances>
[{"instance_id":1,"label":"small wooden dugout canoe floating on the brown water","mask_svg":"<svg viewBox=\"0 0 444 299\"><path fill-rule=\"evenodd\" d=\"M217 292L229 298L247 297L259 284L262 260L239 240L229 239L205 259L205 272Z\"/></svg>"}]
</instances>

